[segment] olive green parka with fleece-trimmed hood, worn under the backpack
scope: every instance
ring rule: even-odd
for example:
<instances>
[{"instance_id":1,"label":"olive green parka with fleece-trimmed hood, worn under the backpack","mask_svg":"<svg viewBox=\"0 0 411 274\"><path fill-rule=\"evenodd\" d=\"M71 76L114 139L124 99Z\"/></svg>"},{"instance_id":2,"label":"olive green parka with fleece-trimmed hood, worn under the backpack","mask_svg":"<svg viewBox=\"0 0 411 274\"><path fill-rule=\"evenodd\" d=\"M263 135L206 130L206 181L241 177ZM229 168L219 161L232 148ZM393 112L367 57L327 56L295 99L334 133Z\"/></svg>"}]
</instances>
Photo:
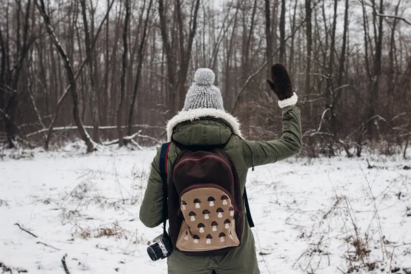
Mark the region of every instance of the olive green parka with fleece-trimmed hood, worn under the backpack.
<instances>
[{"instance_id":1,"label":"olive green parka with fleece-trimmed hood, worn under the backpack","mask_svg":"<svg viewBox=\"0 0 411 274\"><path fill-rule=\"evenodd\" d=\"M225 152L234 162L244 190L247 172L252 166L284 160L301 150L300 110L287 107L282 110L283 134L279 140L249 141L241 136L240 125L227 112L212 109L197 109L179 112L167 125L169 140L182 145L225 145ZM168 171L181 151L171 145L168 156ZM147 227L162 223L162 179L159 169L160 149L151 164L151 173L144 200L140 208L140 220ZM169 172L169 178L171 173ZM245 210L244 210L245 212ZM245 214L245 213L244 213ZM167 264L169 274L219 274L260 273L256 258L254 238L244 216L245 224L240 247L221 256L185 256L174 250Z\"/></svg>"}]
</instances>

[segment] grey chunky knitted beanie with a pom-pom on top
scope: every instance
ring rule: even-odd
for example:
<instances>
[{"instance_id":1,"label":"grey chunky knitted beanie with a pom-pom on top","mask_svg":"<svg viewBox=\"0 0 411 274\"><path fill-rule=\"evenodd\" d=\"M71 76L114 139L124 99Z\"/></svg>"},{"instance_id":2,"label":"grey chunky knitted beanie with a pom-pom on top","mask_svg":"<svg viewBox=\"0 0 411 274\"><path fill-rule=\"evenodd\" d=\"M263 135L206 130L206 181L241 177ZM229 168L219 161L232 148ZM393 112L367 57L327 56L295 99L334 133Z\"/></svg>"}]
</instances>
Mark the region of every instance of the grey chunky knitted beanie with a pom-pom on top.
<instances>
[{"instance_id":1,"label":"grey chunky knitted beanie with a pom-pom on top","mask_svg":"<svg viewBox=\"0 0 411 274\"><path fill-rule=\"evenodd\" d=\"M197 69L195 82L190 86L184 101L183 111L196 108L215 108L224 110L223 98L219 88L213 85L214 73L211 69Z\"/></svg>"}]
</instances>

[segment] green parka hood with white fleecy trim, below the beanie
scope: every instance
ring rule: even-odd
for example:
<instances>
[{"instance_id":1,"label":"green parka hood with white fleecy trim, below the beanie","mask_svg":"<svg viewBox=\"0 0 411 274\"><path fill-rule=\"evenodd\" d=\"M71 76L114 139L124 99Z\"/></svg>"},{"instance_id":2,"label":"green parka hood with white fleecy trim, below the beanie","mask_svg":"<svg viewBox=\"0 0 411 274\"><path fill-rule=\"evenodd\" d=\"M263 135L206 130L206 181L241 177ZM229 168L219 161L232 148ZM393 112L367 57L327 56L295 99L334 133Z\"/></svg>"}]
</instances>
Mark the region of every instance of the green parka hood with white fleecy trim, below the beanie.
<instances>
[{"instance_id":1,"label":"green parka hood with white fleecy trim, below the beanie","mask_svg":"<svg viewBox=\"0 0 411 274\"><path fill-rule=\"evenodd\" d=\"M232 133L240 136L240 123L224 110L197 108L181 111L167 123L167 141L182 145L222 145Z\"/></svg>"}]
</instances>

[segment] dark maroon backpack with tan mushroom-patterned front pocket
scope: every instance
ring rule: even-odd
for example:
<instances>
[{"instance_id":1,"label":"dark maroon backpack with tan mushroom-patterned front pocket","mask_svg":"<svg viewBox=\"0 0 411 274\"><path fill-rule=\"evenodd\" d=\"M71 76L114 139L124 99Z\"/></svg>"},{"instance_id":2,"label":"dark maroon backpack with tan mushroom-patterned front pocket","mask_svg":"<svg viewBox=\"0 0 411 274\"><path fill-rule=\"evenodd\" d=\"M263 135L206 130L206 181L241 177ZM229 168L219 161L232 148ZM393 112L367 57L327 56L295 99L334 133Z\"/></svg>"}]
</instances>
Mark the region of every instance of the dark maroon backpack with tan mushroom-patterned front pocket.
<instances>
[{"instance_id":1,"label":"dark maroon backpack with tan mushroom-patterned front pocket","mask_svg":"<svg viewBox=\"0 0 411 274\"><path fill-rule=\"evenodd\" d=\"M174 162L167 186L170 145L171 142L162 145L160 174L164 201L168 197L163 212L169 212L173 248L188 256L212 256L239 247L244 228L240 181L223 147L176 144L182 152ZM246 191L244 196L247 219L253 227ZM164 221L166 217L163 214Z\"/></svg>"}]
</instances>

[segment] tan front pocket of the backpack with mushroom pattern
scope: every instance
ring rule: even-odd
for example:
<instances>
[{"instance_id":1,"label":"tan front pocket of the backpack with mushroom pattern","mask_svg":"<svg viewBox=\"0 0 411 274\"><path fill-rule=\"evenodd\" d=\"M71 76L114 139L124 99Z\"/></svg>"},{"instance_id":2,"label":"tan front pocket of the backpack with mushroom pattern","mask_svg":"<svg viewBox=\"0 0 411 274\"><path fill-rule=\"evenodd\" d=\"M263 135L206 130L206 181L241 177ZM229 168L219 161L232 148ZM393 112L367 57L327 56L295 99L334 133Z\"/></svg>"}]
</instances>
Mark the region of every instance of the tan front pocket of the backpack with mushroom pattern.
<instances>
[{"instance_id":1,"label":"tan front pocket of the backpack with mushroom pattern","mask_svg":"<svg viewBox=\"0 0 411 274\"><path fill-rule=\"evenodd\" d=\"M184 221L176 247L180 251L212 251L238 247L235 209L229 194L219 186L192 186L181 196Z\"/></svg>"}]
</instances>

